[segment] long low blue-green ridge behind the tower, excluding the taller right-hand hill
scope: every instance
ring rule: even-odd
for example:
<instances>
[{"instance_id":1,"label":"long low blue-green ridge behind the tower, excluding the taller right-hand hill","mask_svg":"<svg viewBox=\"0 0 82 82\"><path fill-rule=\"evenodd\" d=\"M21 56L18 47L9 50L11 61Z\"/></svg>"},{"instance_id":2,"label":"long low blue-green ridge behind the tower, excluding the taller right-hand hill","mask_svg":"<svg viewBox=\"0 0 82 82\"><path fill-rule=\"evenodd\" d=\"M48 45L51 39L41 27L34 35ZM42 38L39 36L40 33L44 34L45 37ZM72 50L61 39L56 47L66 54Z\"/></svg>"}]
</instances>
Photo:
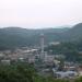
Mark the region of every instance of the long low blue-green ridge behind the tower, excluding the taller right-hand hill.
<instances>
[{"instance_id":1,"label":"long low blue-green ridge behind the tower, excluding the taller right-hand hill","mask_svg":"<svg viewBox=\"0 0 82 82\"><path fill-rule=\"evenodd\" d=\"M45 28L26 30L21 27L0 28L0 49L39 45L40 34L45 34L46 42L52 42L60 36L60 33L69 28Z\"/></svg>"}]
</instances>

